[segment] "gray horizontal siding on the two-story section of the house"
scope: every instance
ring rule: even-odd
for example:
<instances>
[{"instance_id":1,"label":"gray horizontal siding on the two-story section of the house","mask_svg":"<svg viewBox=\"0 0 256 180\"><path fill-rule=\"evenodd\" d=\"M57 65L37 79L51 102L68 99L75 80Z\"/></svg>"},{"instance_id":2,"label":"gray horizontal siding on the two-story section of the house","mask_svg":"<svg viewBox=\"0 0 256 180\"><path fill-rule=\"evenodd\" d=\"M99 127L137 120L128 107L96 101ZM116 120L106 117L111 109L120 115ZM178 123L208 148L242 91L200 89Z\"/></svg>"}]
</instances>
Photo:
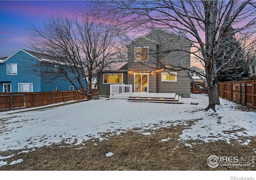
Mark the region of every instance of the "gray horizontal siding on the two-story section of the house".
<instances>
[{"instance_id":1,"label":"gray horizontal siding on the two-story section of the house","mask_svg":"<svg viewBox=\"0 0 256 180\"><path fill-rule=\"evenodd\" d=\"M134 48L148 46L150 52L153 55L149 55L148 62L134 62ZM182 47L183 50L187 51L175 51L171 54L154 54L154 51L166 51L174 50L177 46ZM183 66L190 68L190 42L181 39L179 36L174 34L166 33L161 30L157 30L154 33L150 33L146 38L138 38L128 46L128 84L134 86L134 72L144 73L152 72L149 76L149 92L160 92L160 93L176 93L182 97L190 97L190 78L187 76L184 70L171 71L162 70L156 72L158 67L155 63L156 58L162 64L171 66L172 64L181 63ZM161 82L161 72L177 72L177 82ZM150 73L148 72L148 73ZM183 77L182 77L183 76ZM134 88L133 88L134 91Z\"/></svg>"}]
</instances>

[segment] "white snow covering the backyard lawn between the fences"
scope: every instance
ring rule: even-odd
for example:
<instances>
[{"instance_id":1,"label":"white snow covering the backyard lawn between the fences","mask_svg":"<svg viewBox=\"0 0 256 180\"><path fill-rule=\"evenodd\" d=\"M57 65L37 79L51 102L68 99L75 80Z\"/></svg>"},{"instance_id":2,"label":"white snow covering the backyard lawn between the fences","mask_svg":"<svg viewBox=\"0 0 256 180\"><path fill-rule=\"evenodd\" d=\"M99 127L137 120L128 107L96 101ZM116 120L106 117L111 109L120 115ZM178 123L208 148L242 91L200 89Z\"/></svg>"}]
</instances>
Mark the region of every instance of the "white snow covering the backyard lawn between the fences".
<instances>
[{"instance_id":1,"label":"white snow covering the backyard lawn between the fences","mask_svg":"<svg viewBox=\"0 0 256 180\"><path fill-rule=\"evenodd\" d=\"M204 111L208 97L193 94L183 98L184 104L127 102L126 100L90 100L76 104L52 107L29 112L0 112L0 151L20 150L50 146L53 143L82 144L91 138L106 140L106 132L119 134L133 128L148 129L192 125L182 131L181 142L203 140L204 142L238 139L246 145L247 136L256 136L256 113L234 108L236 104L221 99L217 111ZM190 102L198 105L190 104ZM15 112L15 111L13 111ZM227 133L228 132L228 133ZM162 141L168 141L163 139ZM22 151L23 150L23 151ZM0 166L6 165L7 157L0 156ZM22 162L17 160L14 163Z\"/></svg>"}]
</instances>

